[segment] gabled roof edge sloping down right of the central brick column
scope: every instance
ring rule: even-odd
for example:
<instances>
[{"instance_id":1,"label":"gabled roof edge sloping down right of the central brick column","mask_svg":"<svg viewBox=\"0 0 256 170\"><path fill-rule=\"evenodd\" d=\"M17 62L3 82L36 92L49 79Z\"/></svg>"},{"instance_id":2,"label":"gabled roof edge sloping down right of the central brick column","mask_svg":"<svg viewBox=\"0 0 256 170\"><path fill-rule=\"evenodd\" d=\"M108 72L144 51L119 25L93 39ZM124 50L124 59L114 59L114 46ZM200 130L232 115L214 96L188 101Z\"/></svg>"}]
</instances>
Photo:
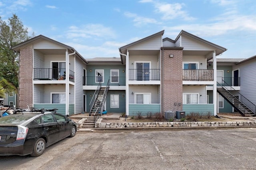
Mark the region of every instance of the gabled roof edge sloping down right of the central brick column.
<instances>
[{"instance_id":1,"label":"gabled roof edge sloping down right of the central brick column","mask_svg":"<svg viewBox=\"0 0 256 170\"><path fill-rule=\"evenodd\" d=\"M198 40L198 41L200 41L200 42L206 43L207 45L210 45L210 46L213 46L213 47L217 48L218 50L216 51L216 55L220 55L220 54L223 53L224 51L227 51L227 50L228 50L228 49L226 49L226 48L224 48L224 47L222 47L222 46L220 46L220 45L217 45L217 44L208 42L208 41L206 41L206 40L204 40L204 39L202 39L202 38L199 38L198 36L195 36L195 35L193 35L193 34L190 34L190 33L186 32L186 31L184 31L184 30L181 30L180 34L179 34L179 35L177 36L177 38L175 39L175 42L176 42L176 41L178 40L178 38L179 38L180 36L182 36L182 35L188 36L188 37L190 37L190 38L194 38L194 39L196 39L196 40Z\"/></svg>"}]
</instances>

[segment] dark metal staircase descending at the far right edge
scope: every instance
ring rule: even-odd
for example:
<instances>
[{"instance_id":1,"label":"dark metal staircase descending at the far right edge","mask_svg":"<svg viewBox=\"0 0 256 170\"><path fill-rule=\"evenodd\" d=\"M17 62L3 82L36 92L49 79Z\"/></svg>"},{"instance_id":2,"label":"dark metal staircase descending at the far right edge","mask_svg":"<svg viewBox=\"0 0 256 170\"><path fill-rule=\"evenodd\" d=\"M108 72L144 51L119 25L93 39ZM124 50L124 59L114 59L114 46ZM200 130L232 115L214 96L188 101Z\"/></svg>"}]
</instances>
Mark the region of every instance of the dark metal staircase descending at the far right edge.
<instances>
[{"instance_id":1,"label":"dark metal staircase descending at the far right edge","mask_svg":"<svg viewBox=\"0 0 256 170\"><path fill-rule=\"evenodd\" d=\"M256 106L224 80L217 82L217 91L242 116L256 116Z\"/></svg>"}]
</instances>

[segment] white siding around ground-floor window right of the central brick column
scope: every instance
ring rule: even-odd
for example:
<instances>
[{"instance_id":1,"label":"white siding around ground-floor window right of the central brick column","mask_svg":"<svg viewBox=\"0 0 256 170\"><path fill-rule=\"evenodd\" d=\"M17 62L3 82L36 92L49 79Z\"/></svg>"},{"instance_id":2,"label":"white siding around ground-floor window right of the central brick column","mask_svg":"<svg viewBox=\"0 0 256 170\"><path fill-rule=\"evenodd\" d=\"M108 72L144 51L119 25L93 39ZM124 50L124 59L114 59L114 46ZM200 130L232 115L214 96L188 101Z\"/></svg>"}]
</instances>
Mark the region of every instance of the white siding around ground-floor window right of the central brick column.
<instances>
[{"instance_id":1,"label":"white siding around ground-floor window right of the central brick column","mask_svg":"<svg viewBox=\"0 0 256 170\"><path fill-rule=\"evenodd\" d=\"M199 104L206 104L206 86L205 85L184 85L182 93L199 93ZM202 96L200 96L202 95Z\"/></svg>"}]
</instances>

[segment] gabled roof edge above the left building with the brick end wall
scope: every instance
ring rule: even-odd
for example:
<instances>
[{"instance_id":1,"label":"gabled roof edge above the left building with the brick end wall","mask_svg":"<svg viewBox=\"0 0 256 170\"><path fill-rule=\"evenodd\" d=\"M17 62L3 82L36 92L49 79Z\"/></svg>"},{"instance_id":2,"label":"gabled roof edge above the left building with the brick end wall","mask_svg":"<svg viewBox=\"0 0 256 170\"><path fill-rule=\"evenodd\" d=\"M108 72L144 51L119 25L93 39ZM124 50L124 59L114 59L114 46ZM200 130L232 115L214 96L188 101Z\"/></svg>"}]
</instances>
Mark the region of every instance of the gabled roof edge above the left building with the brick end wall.
<instances>
[{"instance_id":1,"label":"gabled roof edge above the left building with the brick end wall","mask_svg":"<svg viewBox=\"0 0 256 170\"><path fill-rule=\"evenodd\" d=\"M66 45L66 44L64 44L64 43L57 42L56 40L52 40L52 39L50 39L50 38L48 38L48 37L46 37L46 36L43 36L43 35L39 35L39 36L33 37L33 38L31 38L31 39L29 39L29 40L26 40L26 41L24 41L24 42L22 42L22 43L19 43L19 44L17 44L17 45L14 45L14 46L12 47L12 49L13 49L14 51L20 52L20 48L22 48L22 47L24 47L24 46L26 46L26 45L32 44L32 43L36 43L36 42L40 41L41 39L44 39L44 40L47 40L47 41L56 43L56 44L58 44L58 45L60 45L60 46L62 46L62 47L65 47L65 48L69 49L70 51L73 51L73 52L76 51L73 47L70 47L70 46L68 46L68 45ZM76 55L77 55L78 57L80 57L83 61L85 61L86 63L88 63L88 62L86 61L86 59L84 59L84 57L82 57L82 55L80 55L80 53L78 53L77 51L76 51Z\"/></svg>"}]
</instances>

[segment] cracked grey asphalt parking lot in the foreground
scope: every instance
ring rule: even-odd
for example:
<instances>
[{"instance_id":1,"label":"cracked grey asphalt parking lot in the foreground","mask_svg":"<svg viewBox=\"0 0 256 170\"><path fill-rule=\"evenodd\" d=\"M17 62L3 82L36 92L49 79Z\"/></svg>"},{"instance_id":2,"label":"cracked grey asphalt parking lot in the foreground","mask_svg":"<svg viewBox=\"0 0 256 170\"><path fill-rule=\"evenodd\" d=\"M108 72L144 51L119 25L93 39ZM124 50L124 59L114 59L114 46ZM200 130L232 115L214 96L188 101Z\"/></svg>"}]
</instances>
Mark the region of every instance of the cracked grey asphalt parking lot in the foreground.
<instances>
[{"instance_id":1,"label":"cracked grey asphalt parking lot in the foreground","mask_svg":"<svg viewBox=\"0 0 256 170\"><path fill-rule=\"evenodd\" d=\"M0 156L0 169L256 169L256 128L79 132L42 156Z\"/></svg>"}]
</instances>

